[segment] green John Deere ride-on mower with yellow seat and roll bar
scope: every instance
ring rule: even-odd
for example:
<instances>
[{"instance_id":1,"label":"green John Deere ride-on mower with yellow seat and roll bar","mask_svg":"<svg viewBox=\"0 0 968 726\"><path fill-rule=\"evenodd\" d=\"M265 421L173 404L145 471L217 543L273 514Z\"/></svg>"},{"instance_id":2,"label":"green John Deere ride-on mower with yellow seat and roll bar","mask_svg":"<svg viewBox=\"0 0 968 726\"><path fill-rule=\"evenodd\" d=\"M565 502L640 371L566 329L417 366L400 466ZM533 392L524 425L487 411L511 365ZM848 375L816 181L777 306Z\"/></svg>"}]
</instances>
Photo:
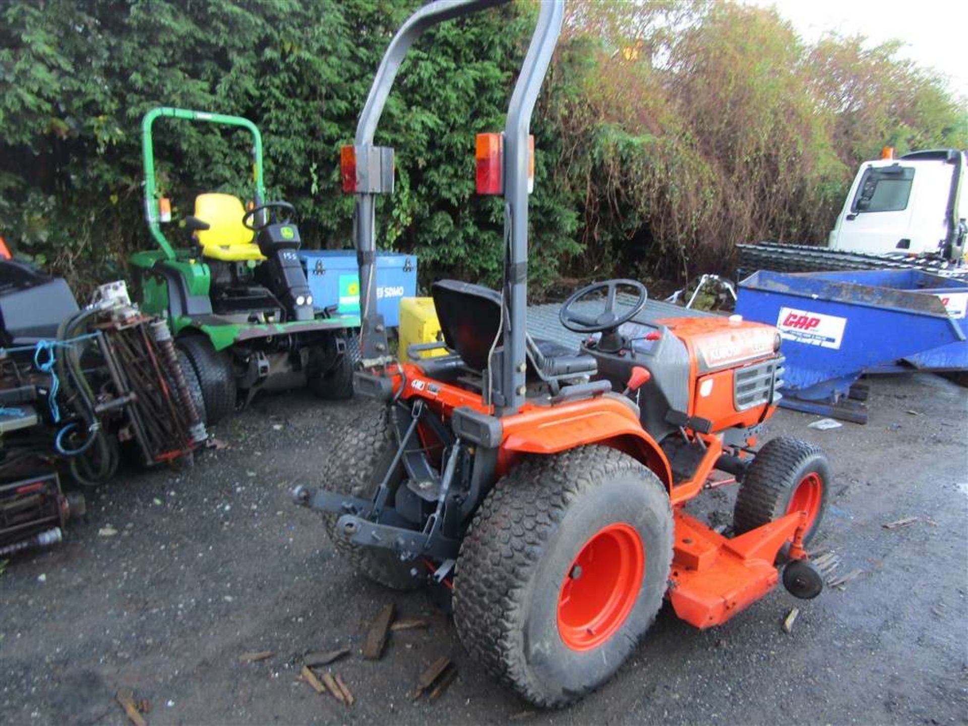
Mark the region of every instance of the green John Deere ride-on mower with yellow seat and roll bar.
<instances>
[{"instance_id":1,"label":"green John Deere ride-on mower with yellow seat and roll bar","mask_svg":"<svg viewBox=\"0 0 968 726\"><path fill-rule=\"evenodd\" d=\"M162 225L171 205L155 180L152 128L159 118L219 124L253 137L253 190L238 197L199 194L173 245ZM141 122L144 215L160 249L131 257L141 310L165 316L190 386L214 424L263 389L308 385L325 399L352 395L348 329L359 318L319 310L297 251L295 209L266 201L262 139L239 116L155 108Z\"/></svg>"}]
</instances>

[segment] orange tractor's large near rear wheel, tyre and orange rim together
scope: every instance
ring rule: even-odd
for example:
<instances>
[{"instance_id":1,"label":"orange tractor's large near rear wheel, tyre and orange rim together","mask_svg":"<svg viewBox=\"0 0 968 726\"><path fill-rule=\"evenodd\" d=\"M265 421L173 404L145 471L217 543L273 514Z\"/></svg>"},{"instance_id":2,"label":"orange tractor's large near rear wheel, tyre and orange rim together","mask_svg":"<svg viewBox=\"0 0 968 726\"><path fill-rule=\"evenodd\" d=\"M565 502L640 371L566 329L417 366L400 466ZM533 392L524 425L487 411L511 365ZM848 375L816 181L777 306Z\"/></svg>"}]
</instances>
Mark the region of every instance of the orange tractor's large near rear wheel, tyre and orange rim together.
<instances>
[{"instance_id":1,"label":"orange tractor's large near rear wheel, tyre and orange rim together","mask_svg":"<svg viewBox=\"0 0 968 726\"><path fill-rule=\"evenodd\" d=\"M673 531L661 482L616 449L526 459L484 499L461 545L461 641L537 706L581 698L655 619Z\"/></svg>"}]
</instances>

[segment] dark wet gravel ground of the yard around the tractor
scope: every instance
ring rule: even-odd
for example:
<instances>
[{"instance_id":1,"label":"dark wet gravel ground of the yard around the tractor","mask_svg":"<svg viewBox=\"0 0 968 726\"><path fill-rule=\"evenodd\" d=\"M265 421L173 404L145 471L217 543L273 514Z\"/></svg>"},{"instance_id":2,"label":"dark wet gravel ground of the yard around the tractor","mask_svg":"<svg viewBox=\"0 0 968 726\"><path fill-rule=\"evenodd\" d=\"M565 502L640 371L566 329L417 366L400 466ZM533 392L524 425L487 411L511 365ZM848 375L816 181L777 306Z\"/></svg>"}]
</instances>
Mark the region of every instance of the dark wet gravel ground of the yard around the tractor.
<instances>
[{"instance_id":1,"label":"dark wet gravel ground of the yard around the tractor","mask_svg":"<svg viewBox=\"0 0 968 726\"><path fill-rule=\"evenodd\" d=\"M966 390L933 376L872 381L867 426L832 431L781 411L768 436L815 441L835 471L815 549L845 590L798 602L776 590L697 631L663 609L618 676L566 711L534 712L461 649L423 593L356 576L318 516L289 501L317 483L341 427L371 410L302 393L266 397L216 432L227 448L194 467L130 471L89 497L68 541L0 575L0 723L125 724L121 687L166 723L964 723L968 720ZM732 493L707 506L728 513ZM906 527L884 524L906 516ZM104 536L106 528L116 534ZM102 532L99 534L99 530ZM388 602L428 630L396 632L378 662L358 655ZM780 623L794 605L791 634ZM334 666L347 709L297 681L301 654L349 646ZM240 653L272 650L243 664ZM424 666L460 677L412 703Z\"/></svg>"}]
</instances>

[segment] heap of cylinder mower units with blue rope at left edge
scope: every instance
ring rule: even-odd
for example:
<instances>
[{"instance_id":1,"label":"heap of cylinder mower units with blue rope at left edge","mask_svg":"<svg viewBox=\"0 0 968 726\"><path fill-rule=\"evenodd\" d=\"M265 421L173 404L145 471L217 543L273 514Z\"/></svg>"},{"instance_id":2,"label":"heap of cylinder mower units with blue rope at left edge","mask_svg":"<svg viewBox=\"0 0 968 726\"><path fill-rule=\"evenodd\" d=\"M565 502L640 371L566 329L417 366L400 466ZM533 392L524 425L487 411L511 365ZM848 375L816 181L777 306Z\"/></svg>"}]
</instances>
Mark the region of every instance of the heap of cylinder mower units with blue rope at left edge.
<instances>
[{"instance_id":1,"label":"heap of cylinder mower units with blue rope at left edge","mask_svg":"<svg viewBox=\"0 0 968 726\"><path fill-rule=\"evenodd\" d=\"M0 261L0 555L59 542L83 513L62 477L94 486L125 447L150 466L203 443L193 376L124 283L81 310L64 280Z\"/></svg>"}]
</instances>

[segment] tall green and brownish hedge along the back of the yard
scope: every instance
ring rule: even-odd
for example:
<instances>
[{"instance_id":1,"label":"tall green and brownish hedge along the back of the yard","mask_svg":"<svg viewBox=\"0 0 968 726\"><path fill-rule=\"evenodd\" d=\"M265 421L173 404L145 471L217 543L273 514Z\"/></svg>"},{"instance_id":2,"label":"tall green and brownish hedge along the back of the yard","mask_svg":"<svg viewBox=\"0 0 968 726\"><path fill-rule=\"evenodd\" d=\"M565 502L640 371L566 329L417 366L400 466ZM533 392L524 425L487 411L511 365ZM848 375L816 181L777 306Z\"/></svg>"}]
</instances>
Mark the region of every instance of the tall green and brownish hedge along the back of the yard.
<instances>
[{"instance_id":1,"label":"tall green and brownish hedge along the back of the yard","mask_svg":"<svg viewBox=\"0 0 968 726\"><path fill-rule=\"evenodd\" d=\"M247 116L269 197L311 247L350 244L339 147L379 57L417 0L8 0L0 10L0 234L83 292L151 246L139 122L154 106ZM722 269L736 242L822 239L854 168L882 145L966 143L942 82L831 37L804 46L733 4L575 3L539 100L532 290L561 276ZM473 194L473 139L499 131L533 25L521 3L451 21L408 56L378 142L397 150L378 244L422 282L494 285L502 208ZM162 120L159 184L187 214L237 191L244 135ZM177 229L170 231L177 235Z\"/></svg>"}]
</instances>

